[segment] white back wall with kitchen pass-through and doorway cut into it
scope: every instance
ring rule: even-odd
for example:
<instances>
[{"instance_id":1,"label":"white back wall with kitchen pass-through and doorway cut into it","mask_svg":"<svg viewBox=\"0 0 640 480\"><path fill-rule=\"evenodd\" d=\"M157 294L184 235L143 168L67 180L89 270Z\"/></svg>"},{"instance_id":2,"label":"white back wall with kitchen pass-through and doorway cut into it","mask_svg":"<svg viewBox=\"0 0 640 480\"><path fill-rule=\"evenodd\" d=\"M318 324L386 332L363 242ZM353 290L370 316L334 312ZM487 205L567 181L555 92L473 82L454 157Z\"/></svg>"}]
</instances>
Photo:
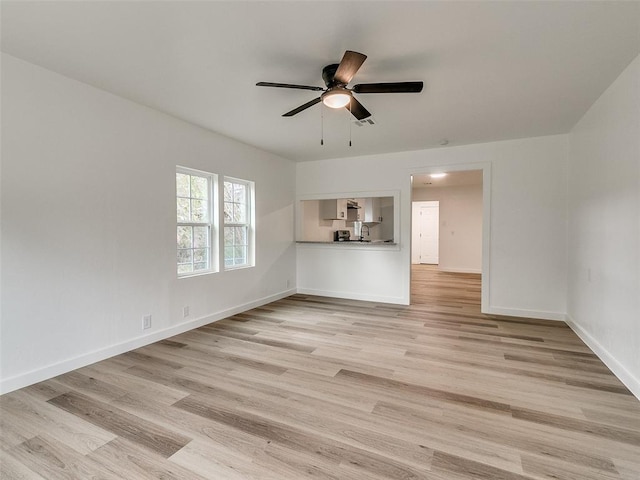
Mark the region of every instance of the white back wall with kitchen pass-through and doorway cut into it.
<instances>
[{"instance_id":1,"label":"white back wall with kitchen pass-through and doorway cut into it","mask_svg":"<svg viewBox=\"0 0 640 480\"><path fill-rule=\"evenodd\" d=\"M490 181L485 181L490 192L490 231L486 232L487 267L483 268L483 277L488 279L484 311L564 319L566 135L298 164L299 197L400 192L398 250L350 255L340 247L299 245L298 288L408 304L411 174L429 173L437 167L478 170L487 166L491 171Z\"/></svg>"}]
</instances>

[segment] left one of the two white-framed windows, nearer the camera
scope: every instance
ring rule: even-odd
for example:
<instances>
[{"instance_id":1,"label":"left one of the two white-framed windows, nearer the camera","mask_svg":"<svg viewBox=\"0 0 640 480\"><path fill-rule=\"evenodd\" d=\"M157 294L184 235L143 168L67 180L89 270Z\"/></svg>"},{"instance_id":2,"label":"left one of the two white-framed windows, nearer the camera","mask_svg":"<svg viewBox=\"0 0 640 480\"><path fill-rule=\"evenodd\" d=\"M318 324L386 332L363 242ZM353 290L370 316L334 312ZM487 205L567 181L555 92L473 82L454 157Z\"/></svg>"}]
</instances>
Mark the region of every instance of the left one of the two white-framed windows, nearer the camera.
<instances>
[{"instance_id":1,"label":"left one of the two white-framed windows, nearer the camera","mask_svg":"<svg viewBox=\"0 0 640 480\"><path fill-rule=\"evenodd\" d=\"M196 170L176 169L178 276L215 271L212 262L214 177Z\"/></svg>"}]
</instances>

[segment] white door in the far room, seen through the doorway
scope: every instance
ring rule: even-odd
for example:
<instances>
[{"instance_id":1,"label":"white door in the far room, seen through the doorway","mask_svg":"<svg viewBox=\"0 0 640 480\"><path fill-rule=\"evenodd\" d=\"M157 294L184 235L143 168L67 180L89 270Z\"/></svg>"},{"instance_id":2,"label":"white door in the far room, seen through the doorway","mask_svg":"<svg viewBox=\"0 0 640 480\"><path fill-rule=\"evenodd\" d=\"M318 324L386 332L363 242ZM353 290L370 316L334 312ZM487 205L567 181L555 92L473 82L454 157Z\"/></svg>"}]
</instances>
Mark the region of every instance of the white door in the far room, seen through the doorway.
<instances>
[{"instance_id":1,"label":"white door in the far room, seen through the doorway","mask_svg":"<svg viewBox=\"0 0 640 480\"><path fill-rule=\"evenodd\" d=\"M411 263L438 264L440 202L413 202Z\"/></svg>"}]
</instances>

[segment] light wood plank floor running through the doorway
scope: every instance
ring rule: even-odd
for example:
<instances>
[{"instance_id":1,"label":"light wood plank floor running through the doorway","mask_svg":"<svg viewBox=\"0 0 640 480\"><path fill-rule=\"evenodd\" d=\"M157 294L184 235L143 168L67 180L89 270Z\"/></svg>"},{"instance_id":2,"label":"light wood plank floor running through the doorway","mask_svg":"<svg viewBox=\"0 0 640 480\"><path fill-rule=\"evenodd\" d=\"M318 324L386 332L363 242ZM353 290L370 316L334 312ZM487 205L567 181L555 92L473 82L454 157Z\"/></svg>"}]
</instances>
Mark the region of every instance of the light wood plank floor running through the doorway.
<instances>
[{"instance_id":1,"label":"light wood plank floor running through the doorway","mask_svg":"<svg viewBox=\"0 0 640 480\"><path fill-rule=\"evenodd\" d=\"M564 324L294 295L0 398L2 479L633 479L640 402Z\"/></svg>"}]
</instances>

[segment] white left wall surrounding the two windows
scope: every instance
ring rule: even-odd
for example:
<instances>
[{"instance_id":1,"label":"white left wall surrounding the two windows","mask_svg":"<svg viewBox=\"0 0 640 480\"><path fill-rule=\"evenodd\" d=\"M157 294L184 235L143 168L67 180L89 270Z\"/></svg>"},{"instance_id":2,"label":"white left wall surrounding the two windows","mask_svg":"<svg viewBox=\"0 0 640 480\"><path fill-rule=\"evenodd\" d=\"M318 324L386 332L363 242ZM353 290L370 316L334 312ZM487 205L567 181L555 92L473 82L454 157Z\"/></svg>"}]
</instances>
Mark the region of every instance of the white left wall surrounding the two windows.
<instances>
[{"instance_id":1,"label":"white left wall surrounding the two windows","mask_svg":"<svg viewBox=\"0 0 640 480\"><path fill-rule=\"evenodd\" d=\"M295 285L287 160L4 54L1 153L3 391ZM255 181L255 268L176 278L176 164Z\"/></svg>"}]
</instances>

